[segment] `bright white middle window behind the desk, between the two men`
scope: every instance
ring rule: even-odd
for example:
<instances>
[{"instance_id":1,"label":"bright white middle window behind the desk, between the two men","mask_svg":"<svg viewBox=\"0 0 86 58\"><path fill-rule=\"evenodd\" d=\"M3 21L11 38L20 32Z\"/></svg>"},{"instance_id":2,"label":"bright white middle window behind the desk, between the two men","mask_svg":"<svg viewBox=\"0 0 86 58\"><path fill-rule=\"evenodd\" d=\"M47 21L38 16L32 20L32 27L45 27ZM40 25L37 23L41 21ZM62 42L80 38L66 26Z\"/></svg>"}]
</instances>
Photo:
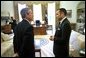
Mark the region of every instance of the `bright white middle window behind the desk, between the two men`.
<instances>
[{"instance_id":1,"label":"bright white middle window behind the desk, between the two men","mask_svg":"<svg viewBox=\"0 0 86 58\"><path fill-rule=\"evenodd\" d=\"M42 21L42 9L41 4L33 4L33 19Z\"/></svg>"}]
</instances>

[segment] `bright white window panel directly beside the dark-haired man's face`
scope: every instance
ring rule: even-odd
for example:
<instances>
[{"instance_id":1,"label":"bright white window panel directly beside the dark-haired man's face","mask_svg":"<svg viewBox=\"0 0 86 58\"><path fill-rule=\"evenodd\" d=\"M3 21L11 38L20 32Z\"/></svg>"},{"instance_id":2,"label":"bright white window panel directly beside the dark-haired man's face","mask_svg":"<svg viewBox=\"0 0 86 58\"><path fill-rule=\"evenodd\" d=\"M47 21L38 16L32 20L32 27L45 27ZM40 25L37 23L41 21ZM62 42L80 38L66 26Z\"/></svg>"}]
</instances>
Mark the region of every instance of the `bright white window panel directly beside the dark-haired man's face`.
<instances>
[{"instance_id":1,"label":"bright white window panel directly beside the dark-haired man's face","mask_svg":"<svg viewBox=\"0 0 86 58\"><path fill-rule=\"evenodd\" d=\"M55 34L55 2L48 3L48 25L52 25L53 33L51 35L54 35Z\"/></svg>"}]
</instances>

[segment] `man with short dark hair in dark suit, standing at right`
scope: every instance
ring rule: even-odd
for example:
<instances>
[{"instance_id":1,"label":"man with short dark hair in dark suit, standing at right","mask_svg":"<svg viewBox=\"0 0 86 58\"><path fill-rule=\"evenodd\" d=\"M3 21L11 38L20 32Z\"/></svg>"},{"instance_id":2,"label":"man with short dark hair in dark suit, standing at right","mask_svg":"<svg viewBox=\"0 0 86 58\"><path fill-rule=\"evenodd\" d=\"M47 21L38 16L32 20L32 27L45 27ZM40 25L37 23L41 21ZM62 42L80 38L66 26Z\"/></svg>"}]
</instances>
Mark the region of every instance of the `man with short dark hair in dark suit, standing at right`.
<instances>
[{"instance_id":1,"label":"man with short dark hair in dark suit, standing at right","mask_svg":"<svg viewBox=\"0 0 86 58\"><path fill-rule=\"evenodd\" d=\"M66 18L67 11L60 8L56 12L56 16L60 24L58 25L54 36L53 52L55 57L69 56L69 38L71 34L70 22Z\"/></svg>"}]
</instances>

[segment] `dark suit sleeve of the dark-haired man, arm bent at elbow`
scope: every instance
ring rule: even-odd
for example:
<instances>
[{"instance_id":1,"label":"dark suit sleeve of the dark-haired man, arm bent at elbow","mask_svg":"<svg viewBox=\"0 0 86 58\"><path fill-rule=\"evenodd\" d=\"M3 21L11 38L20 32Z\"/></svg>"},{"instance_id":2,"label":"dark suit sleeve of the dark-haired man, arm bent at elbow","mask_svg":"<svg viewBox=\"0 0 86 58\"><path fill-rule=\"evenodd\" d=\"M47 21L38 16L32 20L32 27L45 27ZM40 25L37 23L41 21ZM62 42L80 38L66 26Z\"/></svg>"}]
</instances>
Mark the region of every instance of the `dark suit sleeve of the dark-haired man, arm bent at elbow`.
<instances>
[{"instance_id":1,"label":"dark suit sleeve of the dark-haired man, arm bent at elbow","mask_svg":"<svg viewBox=\"0 0 86 58\"><path fill-rule=\"evenodd\" d=\"M62 35L61 37L57 38L56 40L57 43L66 44L69 41L70 32L71 32L70 28L71 28L70 25L67 23L62 26Z\"/></svg>"}]
</instances>

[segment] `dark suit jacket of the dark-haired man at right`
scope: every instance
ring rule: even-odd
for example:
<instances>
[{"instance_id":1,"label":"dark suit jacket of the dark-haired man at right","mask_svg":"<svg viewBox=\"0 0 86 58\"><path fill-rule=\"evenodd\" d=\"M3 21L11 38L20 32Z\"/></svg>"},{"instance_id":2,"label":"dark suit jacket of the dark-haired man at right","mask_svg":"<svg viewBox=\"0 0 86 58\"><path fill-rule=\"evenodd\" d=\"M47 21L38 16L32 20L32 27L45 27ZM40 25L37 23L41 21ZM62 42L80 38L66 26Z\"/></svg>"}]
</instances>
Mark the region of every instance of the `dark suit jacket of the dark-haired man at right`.
<instances>
[{"instance_id":1,"label":"dark suit jacket of the dark-haired man at right","mask_svg":"<svg viewBox=\"0 0 86 58\"><path fill-rule=\"evenodd\" d=\"M54 36L53 52L56 57L66 57L69 55L69 38L71 34L70 22L66 18L57 28Z\"/></svg>"}]
</instances>

